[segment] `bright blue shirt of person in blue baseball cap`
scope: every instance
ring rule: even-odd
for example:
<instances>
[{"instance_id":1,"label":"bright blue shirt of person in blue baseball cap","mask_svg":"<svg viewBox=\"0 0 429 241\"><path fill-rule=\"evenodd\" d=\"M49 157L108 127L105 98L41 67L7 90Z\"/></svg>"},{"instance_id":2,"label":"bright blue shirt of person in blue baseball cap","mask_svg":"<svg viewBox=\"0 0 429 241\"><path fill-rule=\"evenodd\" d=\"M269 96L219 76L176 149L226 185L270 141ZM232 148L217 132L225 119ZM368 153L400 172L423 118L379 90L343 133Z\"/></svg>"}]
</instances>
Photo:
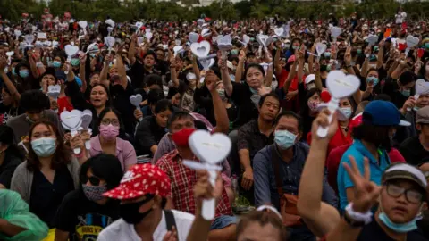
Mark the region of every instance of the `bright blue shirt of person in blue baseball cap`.
<instances>
[{"instance_id":1,"label":"bright blue shirt of person in blue baseball cap","mask_svg":"<svg viewBox=\"0 0 429 241\"><path fill-rule=\"evenodd\" d=\"M344 210L347 204L349 204L347 201L346 189L349 187L354 187L349 174L342 166L342 162L346 162L351 167L349 155L355 158L357 167L359 168L362 175L364 174L364 157L368 158L369 170L371 171L370 180L374 181L374 183L379 186L382 182L384 170L386 170L387 166L391 164L391 160L389 160L389 155L387 154L386 150L380 150L380 164L378 164L378 161L375 160L374 155L366 149L365 145L363 145L360 140L355 139L353 144L350 145L349 149L347 149L347 151L342 155L340 166L338 168L337 183L338 192L340 195L341 210Z\"/></svg>"}]
</instances>

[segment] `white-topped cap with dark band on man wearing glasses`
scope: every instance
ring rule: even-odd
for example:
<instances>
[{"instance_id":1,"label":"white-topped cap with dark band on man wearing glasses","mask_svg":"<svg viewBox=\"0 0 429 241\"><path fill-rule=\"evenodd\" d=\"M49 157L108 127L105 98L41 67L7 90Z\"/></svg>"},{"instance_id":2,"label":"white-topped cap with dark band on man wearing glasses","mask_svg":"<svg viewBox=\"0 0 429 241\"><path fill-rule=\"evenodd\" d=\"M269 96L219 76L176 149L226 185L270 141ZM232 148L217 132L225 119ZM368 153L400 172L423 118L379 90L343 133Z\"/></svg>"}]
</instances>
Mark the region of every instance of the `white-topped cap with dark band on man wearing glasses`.
<instances>
[{"instance_id":1,"label":"white-topped cap with dark band on man wearing glasses","mask_svg":"<svg viewBox=\"0 0 429 241\"><path fill-rule=\"evenodd\" d=\"M407 163L394 163L384 170L382 181L385 182L392 179L408 179L423 189L427 187L425 174L415 166Z\"/></svg>"}]
</instances>

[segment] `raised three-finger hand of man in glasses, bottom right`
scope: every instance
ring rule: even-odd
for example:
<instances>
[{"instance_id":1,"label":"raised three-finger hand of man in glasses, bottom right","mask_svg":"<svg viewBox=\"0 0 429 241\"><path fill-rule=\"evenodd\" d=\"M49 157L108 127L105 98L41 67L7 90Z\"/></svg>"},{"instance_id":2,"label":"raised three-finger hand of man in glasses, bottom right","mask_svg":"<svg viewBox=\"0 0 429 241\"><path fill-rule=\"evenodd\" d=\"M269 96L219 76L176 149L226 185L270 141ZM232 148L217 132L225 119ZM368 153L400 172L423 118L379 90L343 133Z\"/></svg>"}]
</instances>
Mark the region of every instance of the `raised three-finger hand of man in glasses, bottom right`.
<instances>
[{"instance_id":1,"label":"raised three-finger hand of man in glasses, bottom right","mask_svg":"<svg viewBox=\"0 0 429 241\"><path fill-rule=\"evenodd\" d=\"M360 173L355 158L349 155L349 160L351 167L347 162L342 162L342 166L354 184L353 210L366 213L377 202L382 187L378 187L370 180L369 161L366 157L364 158L364 176Z\"/></svg>"}]
</instances>

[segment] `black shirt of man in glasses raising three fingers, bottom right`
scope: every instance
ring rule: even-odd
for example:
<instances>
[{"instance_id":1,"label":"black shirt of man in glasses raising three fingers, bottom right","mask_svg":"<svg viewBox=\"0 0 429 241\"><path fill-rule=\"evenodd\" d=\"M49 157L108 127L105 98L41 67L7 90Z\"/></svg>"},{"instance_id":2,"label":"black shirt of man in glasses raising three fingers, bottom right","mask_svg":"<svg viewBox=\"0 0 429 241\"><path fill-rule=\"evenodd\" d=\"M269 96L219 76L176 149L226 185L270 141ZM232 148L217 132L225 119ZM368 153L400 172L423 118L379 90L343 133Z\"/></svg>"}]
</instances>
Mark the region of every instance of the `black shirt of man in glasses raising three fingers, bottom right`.
<instances>
[{"instance_id":1,"label":"black shirt of man in glasses raising three fingers, bottom right","mask_svg":"<svg viewBox=\"0 0 429 241\"><path fill-rule=\"evenodd\" d=\"M388 236L376 220L373 220L360 231L357 241L395 241L395 239ZM407 240L409 241L425 241L427 240L421 234L420 230L414 230L407 233Z\"/></svg>"}]
</instances>

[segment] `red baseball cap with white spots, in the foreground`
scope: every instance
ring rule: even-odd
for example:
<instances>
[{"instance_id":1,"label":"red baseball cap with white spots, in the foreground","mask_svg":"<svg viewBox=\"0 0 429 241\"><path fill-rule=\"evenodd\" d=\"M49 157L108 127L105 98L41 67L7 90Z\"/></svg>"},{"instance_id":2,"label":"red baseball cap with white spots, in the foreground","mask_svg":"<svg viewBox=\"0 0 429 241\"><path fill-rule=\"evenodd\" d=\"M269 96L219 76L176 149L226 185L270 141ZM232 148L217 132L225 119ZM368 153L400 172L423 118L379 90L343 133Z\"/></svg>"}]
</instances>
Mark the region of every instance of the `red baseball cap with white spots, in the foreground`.
<instances>
[{"instance_id":1,"label":"red baseball cap with white spots, in the foreground","mask_svg":"<svg viewBox=\"0 0 429 241\"><path fill-rule=\"evenodd\" d=\"M152 164L137 164L123 175L118 187L103 195L124 200L148 194L166 197L170 192L170 179L163 170Z\"/></svg>"}]
</instances>

